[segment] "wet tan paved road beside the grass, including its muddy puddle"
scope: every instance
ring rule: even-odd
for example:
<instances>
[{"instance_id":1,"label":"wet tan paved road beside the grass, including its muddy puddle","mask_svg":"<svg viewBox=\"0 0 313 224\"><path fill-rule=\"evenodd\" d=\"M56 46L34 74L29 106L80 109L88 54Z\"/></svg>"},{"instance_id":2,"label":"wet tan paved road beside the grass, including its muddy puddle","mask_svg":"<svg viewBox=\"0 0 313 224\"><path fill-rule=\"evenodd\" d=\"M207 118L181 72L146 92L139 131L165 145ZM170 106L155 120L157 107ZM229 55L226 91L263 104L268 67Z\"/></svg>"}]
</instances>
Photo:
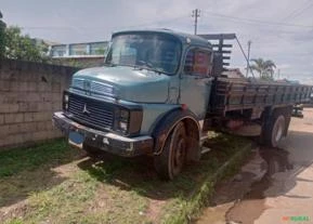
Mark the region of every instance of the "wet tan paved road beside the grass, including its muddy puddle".
<instances>
[{"instance_id":1,"label":"wet tan paved road beside the grass, including its muddy puddle","mask_svg":"<svg viewBox=\"0 0 313 224\"><path fill-rule=\"evenodd\" d=\"M292 118L279 148L260 148L217 188L197 224L313 223L313 109Z\"/></svg>"}]
</instances>

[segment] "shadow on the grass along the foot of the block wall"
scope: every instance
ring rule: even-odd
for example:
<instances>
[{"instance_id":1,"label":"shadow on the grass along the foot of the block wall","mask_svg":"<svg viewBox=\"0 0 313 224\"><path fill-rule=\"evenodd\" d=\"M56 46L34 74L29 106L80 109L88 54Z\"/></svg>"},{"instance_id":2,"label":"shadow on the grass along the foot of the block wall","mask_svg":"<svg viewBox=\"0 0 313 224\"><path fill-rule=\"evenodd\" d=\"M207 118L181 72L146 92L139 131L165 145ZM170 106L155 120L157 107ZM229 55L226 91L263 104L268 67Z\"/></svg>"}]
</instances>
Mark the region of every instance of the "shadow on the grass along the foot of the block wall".
<instances>
[{"instance_id":1,"label":"shadow on the grass along the foot of the block wall","mask_svg":"<svg viewBox=\"0 0 313 224\"><path fill-rule=\"evenodd\" d=\"M0 153L0 214L1 208L26 199L30 194L47 190L67 177L57 169L86 156L57 140L34 147Z\"/></svg>"}]
</instances>

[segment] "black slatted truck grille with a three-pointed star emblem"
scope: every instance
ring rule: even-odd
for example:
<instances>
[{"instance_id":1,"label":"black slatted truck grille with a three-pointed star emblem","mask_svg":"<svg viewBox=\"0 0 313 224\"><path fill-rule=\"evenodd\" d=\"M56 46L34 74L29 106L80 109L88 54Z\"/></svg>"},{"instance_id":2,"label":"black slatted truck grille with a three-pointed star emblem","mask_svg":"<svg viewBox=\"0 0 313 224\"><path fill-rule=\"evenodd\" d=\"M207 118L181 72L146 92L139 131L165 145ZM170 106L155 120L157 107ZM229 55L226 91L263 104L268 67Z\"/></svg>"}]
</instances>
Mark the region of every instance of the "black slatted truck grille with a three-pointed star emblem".
<instances>
[{"instance_id":1,"label":"black slatted truck grille with a three-pointed star emblem","mask_svg":"<svg viewBox=\"0 0 313 224\"><path fill-rule=\"evenodd\" d=\"M86 126L99 129L112 129L114 123L114 108L110 104L69 94L68 111L71 118Z\"/></svg>"}]
</instances>

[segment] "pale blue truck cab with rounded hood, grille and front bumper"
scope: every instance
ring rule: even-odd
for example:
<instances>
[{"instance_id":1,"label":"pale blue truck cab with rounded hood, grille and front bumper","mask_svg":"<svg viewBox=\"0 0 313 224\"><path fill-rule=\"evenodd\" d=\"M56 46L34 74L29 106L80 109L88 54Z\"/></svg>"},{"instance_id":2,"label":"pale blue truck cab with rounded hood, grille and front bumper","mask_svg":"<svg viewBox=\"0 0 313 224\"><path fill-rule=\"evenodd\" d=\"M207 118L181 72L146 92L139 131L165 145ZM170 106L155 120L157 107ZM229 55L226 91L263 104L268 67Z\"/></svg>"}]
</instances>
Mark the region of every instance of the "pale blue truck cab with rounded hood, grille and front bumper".
<instances>
[{"instance_id":1,"label":"pale blue truck cab with rounded hood, grille and front bumper","mask_svg":"<svg viewBox=\"0 0 313 224\"><path fill-rule=\"evenodd\" d=\"M166 159L175 169L157 169L171 179L185 154L199 158L211 73L212 47L206 39L166 29L116 32L105 66L73 76L53 121L70 144L126 157L159 158L166 142L179 139L177 158Z\"/></svg>"}]
</instances>

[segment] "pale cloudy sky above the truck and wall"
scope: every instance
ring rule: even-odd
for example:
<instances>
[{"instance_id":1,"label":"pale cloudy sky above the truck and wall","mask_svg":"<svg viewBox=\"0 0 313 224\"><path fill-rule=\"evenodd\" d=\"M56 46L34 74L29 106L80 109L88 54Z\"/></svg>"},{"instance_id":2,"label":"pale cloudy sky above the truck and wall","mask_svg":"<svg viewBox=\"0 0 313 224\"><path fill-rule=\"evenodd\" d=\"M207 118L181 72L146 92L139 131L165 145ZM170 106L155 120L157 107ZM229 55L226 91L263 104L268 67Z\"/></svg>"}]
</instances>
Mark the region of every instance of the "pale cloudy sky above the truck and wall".
<instances>
[{"instance_id":1,"label":"pale cloudy sky above the truck and wall","mask_svg":"<svg viewBox=\"0 0 313 224\"><path fill-rule=\"evenodd\" d=\"M0 0L8 25L58 43L109 40L114 31L169 28L193 34L235 32L250 57L275 62L276 77L313 84L312 0ZM236 43L231 66L244 68Z\"/></svg>"}]
</instances>

